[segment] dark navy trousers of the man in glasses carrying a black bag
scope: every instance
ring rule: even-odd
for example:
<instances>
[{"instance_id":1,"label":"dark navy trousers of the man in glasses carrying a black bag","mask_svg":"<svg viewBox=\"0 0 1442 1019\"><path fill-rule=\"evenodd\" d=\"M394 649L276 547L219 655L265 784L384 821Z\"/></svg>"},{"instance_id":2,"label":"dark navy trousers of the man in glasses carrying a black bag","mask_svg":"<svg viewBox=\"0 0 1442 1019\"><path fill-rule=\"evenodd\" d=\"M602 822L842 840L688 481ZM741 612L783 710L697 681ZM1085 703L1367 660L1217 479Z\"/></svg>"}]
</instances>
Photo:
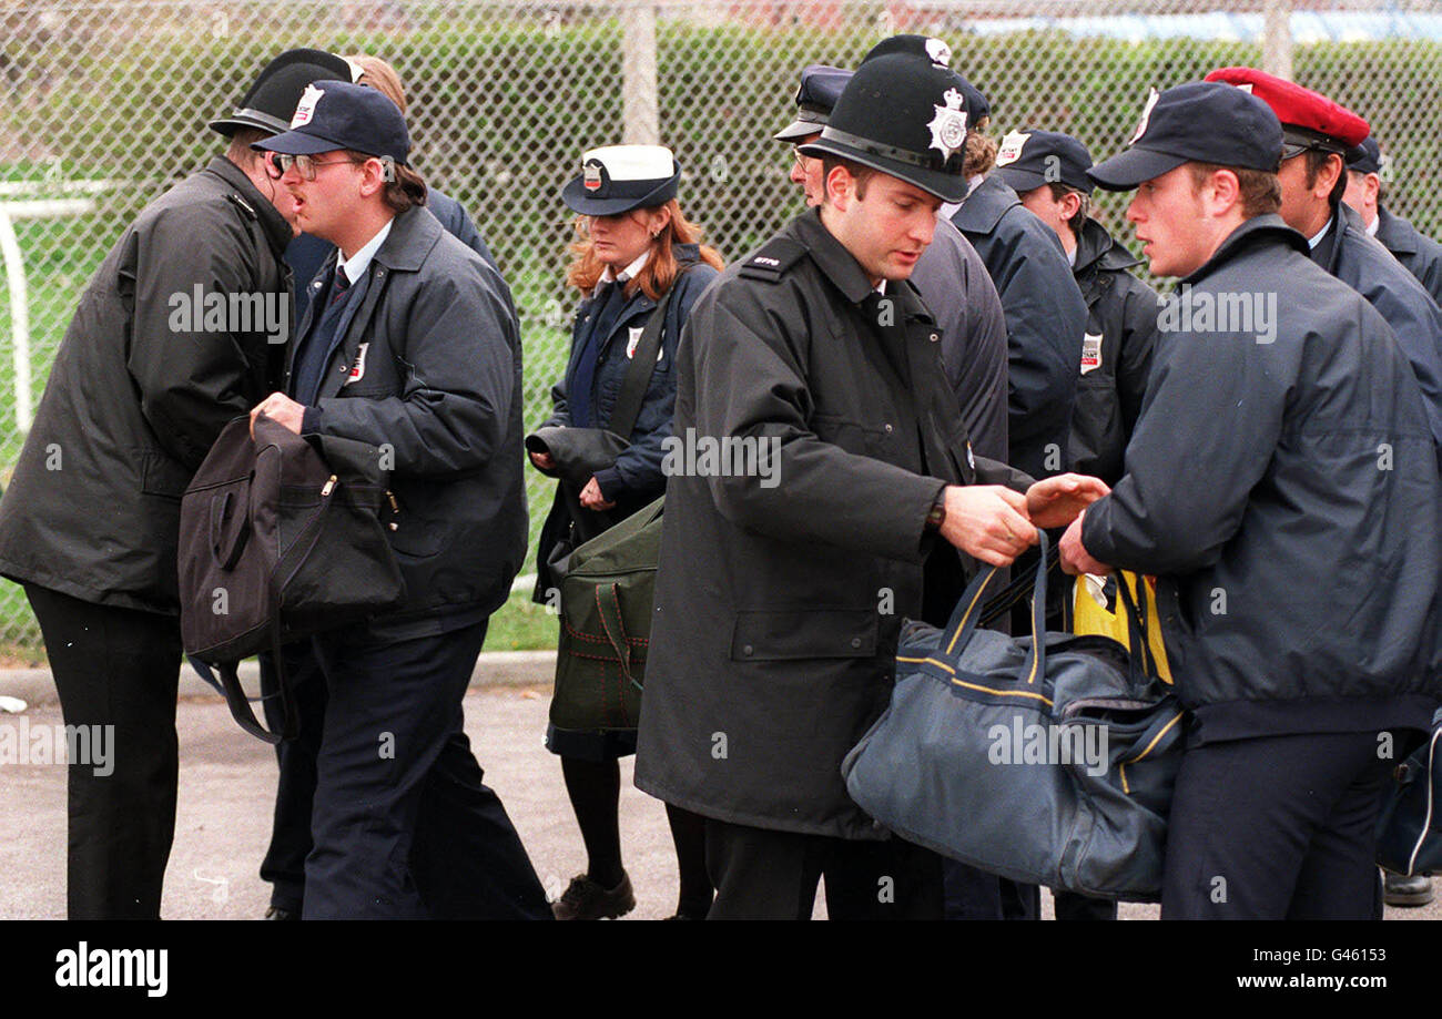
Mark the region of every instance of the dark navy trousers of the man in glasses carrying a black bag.
<instances>
[{"instance_id":1,"label":"dark navy trousers of the man in glasses carrying a black bag","mask_svg":"<svg viewBox=\"0 0 1442 1019\"><path fill-rule=\"evenodd\" d=\"M311 638L327 702L306 920L542 920L551 909L483 783L461 699L486 624L412 640Z\"/></svg>"}]
</instances>

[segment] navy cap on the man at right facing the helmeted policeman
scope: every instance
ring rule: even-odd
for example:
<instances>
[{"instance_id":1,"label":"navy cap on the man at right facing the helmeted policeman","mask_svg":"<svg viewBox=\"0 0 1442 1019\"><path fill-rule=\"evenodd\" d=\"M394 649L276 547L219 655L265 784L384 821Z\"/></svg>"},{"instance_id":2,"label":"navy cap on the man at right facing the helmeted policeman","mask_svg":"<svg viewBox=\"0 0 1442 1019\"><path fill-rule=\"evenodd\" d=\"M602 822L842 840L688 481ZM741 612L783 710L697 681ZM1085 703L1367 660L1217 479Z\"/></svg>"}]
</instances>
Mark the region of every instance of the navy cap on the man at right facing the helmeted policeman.
<instances>
[{"instance_id":1,"label":"navy cap on the man at right facing the helmeted policeman","mask_svg":"<svg viewBox=\"0 0 1442 1019\"><path fill-rule=\"evenodd\" d=\"M1252 92L1221 82L1193 81L1152 89L1126 150L1087 176L1109 192L1126 192L1182 163L1216 163L1276 173L1282 124Z\"/></svg>"}]
</instances>

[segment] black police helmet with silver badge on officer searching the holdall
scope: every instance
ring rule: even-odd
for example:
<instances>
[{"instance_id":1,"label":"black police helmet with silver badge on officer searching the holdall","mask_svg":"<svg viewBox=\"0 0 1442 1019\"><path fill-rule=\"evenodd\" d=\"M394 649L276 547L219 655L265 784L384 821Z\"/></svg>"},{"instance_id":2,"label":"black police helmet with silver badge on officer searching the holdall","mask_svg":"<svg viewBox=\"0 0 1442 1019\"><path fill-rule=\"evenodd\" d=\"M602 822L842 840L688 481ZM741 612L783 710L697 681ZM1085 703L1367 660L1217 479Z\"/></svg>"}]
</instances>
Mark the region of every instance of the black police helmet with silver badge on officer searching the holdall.
<instances>
[{"instance_id":1,"label":"black police helmet with silver badge on officer searching the holdall","mask_svg":"<svg viewBox=\"0 0 1442 1019\"><path fill-rule=\"evenodd\" d=\"M865 61L803 156L839 156L916 184L943 202L966 195L962 79L914 53Z\"/></svg>"}]
</instances>

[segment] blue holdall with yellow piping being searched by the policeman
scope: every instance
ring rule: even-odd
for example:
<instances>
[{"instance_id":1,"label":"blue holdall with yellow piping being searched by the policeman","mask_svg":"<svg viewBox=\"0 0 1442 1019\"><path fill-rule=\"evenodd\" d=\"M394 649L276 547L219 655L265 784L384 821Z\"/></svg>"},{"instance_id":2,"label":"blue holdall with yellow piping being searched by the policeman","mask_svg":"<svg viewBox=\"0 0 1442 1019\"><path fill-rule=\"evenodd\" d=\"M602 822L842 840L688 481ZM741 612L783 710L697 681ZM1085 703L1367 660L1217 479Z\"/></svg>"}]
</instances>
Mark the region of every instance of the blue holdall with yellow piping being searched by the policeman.
<instances>
[{"instance_id":1,"label":"blue holdall with yellow piping being searched by the policeman","mask_svg":"<svg viewBox=\"0 0 1442 1019\"><path fill-rule=\"evenodd\" d=\"M1156 901L1184 722L1145 620L1119 585L1138 656L1109 637L1045 633L1043 566L1032 636L981 630L996 575L976 575L945 630L903 627L891 705L842 761L846 790L901 837L982 871Z\"/></svg>"}]
</instances>

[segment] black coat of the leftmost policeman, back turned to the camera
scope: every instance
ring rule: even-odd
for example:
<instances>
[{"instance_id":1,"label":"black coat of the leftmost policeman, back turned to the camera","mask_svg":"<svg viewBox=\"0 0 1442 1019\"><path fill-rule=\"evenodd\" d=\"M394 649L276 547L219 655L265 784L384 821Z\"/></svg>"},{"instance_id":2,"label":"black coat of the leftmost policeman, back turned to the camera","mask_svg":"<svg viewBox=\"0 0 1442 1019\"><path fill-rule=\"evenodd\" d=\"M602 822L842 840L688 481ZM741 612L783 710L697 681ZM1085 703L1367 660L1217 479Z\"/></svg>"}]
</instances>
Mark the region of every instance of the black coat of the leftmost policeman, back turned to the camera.
<instances>
[{"instance_id":1,"label":"black coat of the leftmost policeman, back turned to the camera","mask_svg":"<svg viewBox=\"0 0 1442 1019\"><path fill-rule=\"evenodd\" d=\"M55 355L0 500L0 574L179 614L180 494L225 422L278 375L290 236L222 157L141 210L85 287ZM245 314L231 295L247 297ZM225 313L206 317L222 301ZM284 320L278 334L267 317Z\"/></svg>"}]
</instances>

